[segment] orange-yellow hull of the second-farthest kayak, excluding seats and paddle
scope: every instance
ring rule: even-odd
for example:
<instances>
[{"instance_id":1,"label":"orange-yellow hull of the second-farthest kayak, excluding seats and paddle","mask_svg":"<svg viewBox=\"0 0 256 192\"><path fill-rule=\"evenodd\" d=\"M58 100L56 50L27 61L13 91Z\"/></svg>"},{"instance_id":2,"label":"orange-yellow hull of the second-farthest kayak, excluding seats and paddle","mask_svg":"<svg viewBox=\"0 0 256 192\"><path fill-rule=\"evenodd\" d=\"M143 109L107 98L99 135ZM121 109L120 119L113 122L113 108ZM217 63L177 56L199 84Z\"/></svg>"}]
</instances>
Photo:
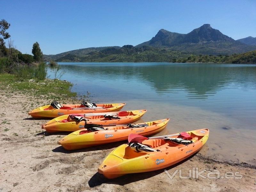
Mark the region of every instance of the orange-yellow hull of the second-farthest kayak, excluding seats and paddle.
<instances>
[{"instance_id":1,"label":"orange-yellow hull of the second-farthest kayak, excluding seats and paddle","mask_svg":"<svg viewBox=\"0 0 256 192\"><path fill-rule=\"evenodd\" d=\"M95 116L89 116L86 117L88 120L86 121L86 124L100 124L105 126L111 126L116 124L128 124L137 121L140 119L147 110L134 110L134 111L127 111L127 116L119 116L120 119L106 119L103 117L103 115L95 115ZM104 114L104 113L101 113ZM109 113L106 113L109 114ZM76 115L84 115L84 114L76 114ZM88 114L87 114L88 115ZM92 114L93 115L93 114ZM76 122L76 121L69 121L69 122L63 122L63 120L67 120L69 115L63 115L60 117L56 117L52 119L51 121L47 122L46 124L42 125L42 129L45 129L47 132L74 132L77 130L81 130L84 128L84 121Z\"/></svg>"}]
</instances>

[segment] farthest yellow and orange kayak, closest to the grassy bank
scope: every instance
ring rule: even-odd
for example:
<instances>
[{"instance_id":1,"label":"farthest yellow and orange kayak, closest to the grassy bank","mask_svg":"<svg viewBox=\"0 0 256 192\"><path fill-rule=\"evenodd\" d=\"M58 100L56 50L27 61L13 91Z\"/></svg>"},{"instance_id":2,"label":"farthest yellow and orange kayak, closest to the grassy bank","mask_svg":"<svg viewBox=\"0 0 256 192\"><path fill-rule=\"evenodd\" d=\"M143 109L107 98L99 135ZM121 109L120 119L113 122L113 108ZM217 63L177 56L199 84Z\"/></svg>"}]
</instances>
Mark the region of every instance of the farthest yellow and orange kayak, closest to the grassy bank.
<instances>
[{"instance_id":1,"label":"farthest yellow and orange kayak, closest to the grassy bank","mask_svg":"<svg viewBox=\"0 0 256 192\"><path fill-rule=\"evenodd\" d=\"M119 111L124 107L125 103L109 103L109 104L97 104L95 108L84 107L83 105L65 105L59 109L53 108L51 105L45 105L29 111L28 114L34 118L41 117L58 117L62 115L74 114L74 113L101 113L110 111Z\"/></svg>"}]
</instances>

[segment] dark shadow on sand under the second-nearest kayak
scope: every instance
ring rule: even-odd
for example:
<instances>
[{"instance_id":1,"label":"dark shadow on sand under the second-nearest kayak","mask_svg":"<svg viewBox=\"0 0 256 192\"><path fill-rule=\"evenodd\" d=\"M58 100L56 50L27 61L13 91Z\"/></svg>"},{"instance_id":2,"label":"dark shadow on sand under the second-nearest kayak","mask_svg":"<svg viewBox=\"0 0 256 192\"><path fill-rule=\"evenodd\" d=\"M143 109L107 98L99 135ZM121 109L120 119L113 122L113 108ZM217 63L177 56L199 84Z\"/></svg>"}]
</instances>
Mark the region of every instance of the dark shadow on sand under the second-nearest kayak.
<instances>
[{"instance_id":1,"label":"dark shadow on sand under the second-nearest kayak","mask_svg":"<svg viewBox=\"0 0 256 192\"><path fill-rule=\"evenodd\" d=\"M114 143L107 143L105 145L98 145L98 146L93 146L93 147L88 147L88 148L83 148L83 149L76 149L76 150L66 150L62 146L59 146L55 149L52 149L52 152L70 154L70 153L79 153L79 152L87 152L87 151L98 151L98 150L106 150L106 149L116 148L124 143L126 143L126 141L118 141L118 142L114 142Z\"/></svg>"}]
</instances>

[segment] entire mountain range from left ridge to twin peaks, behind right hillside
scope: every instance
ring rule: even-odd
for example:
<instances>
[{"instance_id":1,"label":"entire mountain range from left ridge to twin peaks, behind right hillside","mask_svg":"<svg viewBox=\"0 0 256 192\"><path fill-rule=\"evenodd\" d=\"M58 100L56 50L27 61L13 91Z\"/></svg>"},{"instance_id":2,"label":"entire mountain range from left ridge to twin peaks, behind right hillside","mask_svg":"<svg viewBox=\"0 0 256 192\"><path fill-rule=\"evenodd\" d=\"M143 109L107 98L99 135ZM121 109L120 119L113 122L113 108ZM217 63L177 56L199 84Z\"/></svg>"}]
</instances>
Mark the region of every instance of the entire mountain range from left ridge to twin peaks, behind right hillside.
<instances>
[{"instance_id":1,"label":"entire mountain range from left ridge to twin peaks, behind right hillside","mask_svg":"<svg viewBox=\"0 0 256 192\"><path fill-rule=\"evenodd\" d=\"M249 39L255 38L250 37ZM160 29L151 40L137 46L90 47L57 55L44 55L44 59L88 62L157 62L172 61L173 59L187 57L189 54L231 55L253 50L256 50L256 45L236 41L212 28L210 24L204 24L188 34Z\"/></svg>"}]
</instances>

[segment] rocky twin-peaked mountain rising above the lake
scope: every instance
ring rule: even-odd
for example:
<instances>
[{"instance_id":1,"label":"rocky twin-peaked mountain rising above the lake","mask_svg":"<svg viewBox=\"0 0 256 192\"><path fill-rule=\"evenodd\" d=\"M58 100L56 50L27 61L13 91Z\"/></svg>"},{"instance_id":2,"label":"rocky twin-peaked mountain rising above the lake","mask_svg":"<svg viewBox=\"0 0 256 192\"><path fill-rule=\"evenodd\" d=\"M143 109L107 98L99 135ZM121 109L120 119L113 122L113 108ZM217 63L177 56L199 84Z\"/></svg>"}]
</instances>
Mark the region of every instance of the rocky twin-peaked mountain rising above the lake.
<instances>
[{"instance_id":1,"label":"rocky twin-peaked mountain rising above the lake","mask_svg":"<svg viewBox=\"0 0 256 192\"><path fill-rule=\"evenodd\" d=\"M193 54L233 54L255 50L256 46L246 45L232 39L210 24L204 24L188 34L180 34L160 29L151 40L137 45L169 48Z\"/></svg>"}]
</instances>

